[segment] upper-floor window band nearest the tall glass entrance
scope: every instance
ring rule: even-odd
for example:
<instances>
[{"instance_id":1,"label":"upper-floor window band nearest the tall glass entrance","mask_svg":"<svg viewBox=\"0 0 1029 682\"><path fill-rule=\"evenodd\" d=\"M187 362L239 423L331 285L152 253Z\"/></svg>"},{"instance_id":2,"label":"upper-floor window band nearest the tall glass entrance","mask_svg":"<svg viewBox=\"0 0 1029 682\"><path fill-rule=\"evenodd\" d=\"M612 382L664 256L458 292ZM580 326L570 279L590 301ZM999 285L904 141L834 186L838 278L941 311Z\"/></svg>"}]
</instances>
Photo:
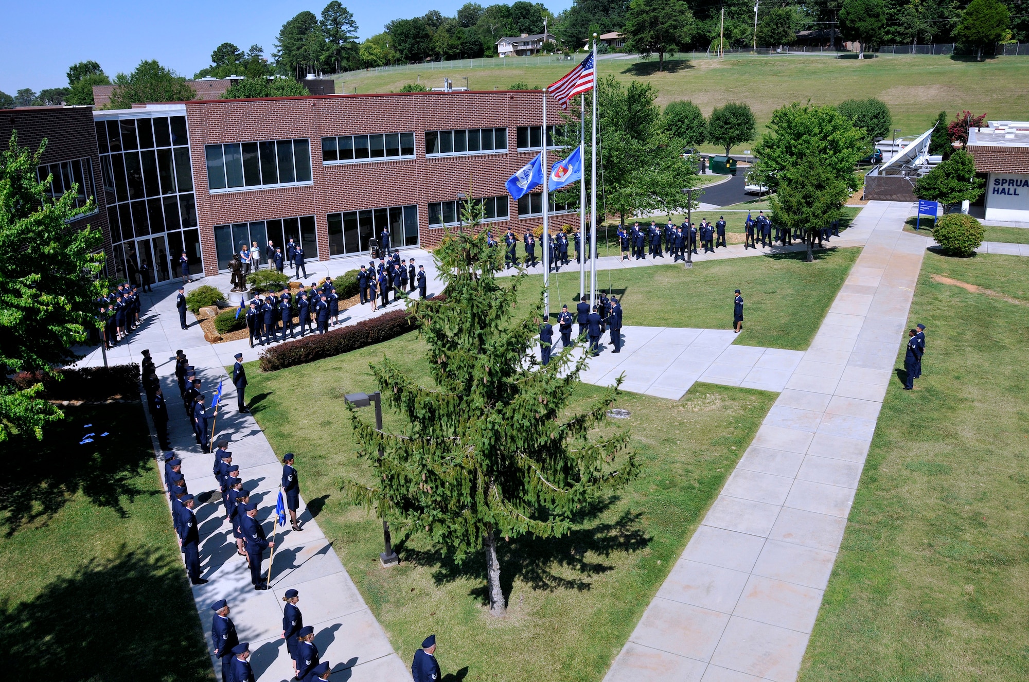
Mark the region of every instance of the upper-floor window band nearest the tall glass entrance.
<instances>
[{"instance_id":1,"label":"upper-floor window band nearest the tall glass entrance","mask_svg":"<svg viewBox=\"0 0 1029 682\"><path fill-rule=\"evenodd\" d=\"M311 182L311 148L307 139L208 144L204 146L204 154L207 186L212 192Z\"/></svg>"}]
</instances>

